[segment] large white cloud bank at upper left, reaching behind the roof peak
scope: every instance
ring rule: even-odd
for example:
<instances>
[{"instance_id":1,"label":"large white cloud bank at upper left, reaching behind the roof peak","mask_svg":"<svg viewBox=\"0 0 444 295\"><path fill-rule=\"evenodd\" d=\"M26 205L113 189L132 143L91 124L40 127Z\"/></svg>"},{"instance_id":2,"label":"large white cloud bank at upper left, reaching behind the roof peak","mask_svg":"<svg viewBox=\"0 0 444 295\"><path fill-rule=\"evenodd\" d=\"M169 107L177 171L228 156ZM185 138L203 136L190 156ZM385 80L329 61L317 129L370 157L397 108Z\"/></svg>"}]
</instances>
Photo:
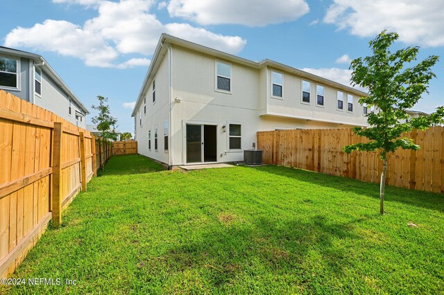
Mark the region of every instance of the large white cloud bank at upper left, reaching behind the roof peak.
<instances>
[{"instance_id":1,"label":"large white cloud bank at upper left, reaching behind the roof peak","mask_svg":"<svg viewBox=\"0 0 444 295\"><path fill-rule=\"evenodd\" d=\"M28 47L80 58L88 66L128 69L146 66L146 58L117 62L125 54L151 55L163 32L206 46L239 53L246 41L237 36L217 35L189 24L162 24L149 10L155 0L53 0L80 4L97 10L98 16L83 26L69 21L46 19L31 28L13 29L5 39L10 47Z\"/></svg>"}]
</instances>

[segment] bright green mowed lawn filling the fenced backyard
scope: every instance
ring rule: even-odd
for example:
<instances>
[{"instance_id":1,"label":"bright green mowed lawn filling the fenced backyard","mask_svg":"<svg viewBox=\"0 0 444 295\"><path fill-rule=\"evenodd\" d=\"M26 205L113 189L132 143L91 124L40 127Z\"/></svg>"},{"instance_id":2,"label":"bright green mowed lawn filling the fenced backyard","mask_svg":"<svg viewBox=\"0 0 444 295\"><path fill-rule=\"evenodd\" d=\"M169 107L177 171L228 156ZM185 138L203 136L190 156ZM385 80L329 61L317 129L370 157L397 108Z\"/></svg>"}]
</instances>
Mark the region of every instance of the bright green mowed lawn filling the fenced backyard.
<instances>
[{"instance_id":1,"label":"bright green mowed lawn filling the fenced backyard","mask_svg":"<svg viewBox=\"0 0 444 295\"><path fill-rule=\"evenodd\" d=\"M444 196L264 166L113 157L0 294L442 294ZM418 227L407 226L409 222Z\"/></svg>"}]
</instances>

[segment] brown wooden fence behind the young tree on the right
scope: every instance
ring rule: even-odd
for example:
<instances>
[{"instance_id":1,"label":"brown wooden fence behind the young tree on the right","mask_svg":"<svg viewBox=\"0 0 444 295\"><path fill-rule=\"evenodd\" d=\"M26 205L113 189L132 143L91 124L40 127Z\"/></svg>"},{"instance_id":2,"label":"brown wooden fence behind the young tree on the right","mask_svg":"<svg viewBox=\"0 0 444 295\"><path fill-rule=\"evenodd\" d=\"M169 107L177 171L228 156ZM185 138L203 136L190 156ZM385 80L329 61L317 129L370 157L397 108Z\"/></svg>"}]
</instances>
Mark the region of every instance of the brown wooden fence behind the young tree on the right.
<instances>
[{"instance_id":1,"label":"brown wooden fence behind the young tree on the right","mask_svg":"<svg viewBox=\"0 0 444 295\"><path fill-rule=\"evenodd\" d=\"M402 150L388 156L386 184L444 193L443 127L403 134L420 150ZM376 152L343 152L345 145L366 142L352 129L294 129L257 132L264 163L302 168L329 175L379 183L382 161Z\"/></svg>"}]
</instances>

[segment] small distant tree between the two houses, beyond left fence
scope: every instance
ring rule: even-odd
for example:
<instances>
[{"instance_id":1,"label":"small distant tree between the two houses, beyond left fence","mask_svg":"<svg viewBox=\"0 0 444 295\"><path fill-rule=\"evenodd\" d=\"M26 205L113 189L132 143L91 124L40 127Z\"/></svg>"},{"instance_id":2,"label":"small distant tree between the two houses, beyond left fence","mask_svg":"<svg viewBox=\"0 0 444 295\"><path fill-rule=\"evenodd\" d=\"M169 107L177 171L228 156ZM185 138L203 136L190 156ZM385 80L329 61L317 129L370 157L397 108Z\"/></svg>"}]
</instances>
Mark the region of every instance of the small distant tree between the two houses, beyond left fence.
<instances>
[{"instance_id":1,"label":"small distant tree between the two houses, beyond left fence","mask_svg":"<svg viewBox=\"0 0 444 295\"><path fill-rule=\"evenodd\" d=\"M97 125L102 139L117 141L117 118L111 116L110 106L106 103L108 98L97 96L97 99L99 100L99 105L93 105L92 108L99 111L99 114L91 119L92 123Z\"/></svg>"}]
</instances>

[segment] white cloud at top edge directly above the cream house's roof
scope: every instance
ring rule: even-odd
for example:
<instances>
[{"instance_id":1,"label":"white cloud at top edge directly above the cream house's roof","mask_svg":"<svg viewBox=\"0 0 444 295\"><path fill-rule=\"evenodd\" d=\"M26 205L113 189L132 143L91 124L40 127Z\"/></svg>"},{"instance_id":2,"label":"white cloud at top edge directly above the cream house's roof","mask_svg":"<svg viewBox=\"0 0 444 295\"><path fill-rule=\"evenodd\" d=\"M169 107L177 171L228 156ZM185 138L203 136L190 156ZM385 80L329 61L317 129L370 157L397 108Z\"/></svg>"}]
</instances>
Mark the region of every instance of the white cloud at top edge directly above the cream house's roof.
<instances>
[{"instance_id":1,"label":"white cloud at top edge directly above the cream house's roof","mask_svg":"<svg viewBox=\"0 0 444 295\"><path fill-rule=\"evenodd\" d=\"M266 26L294 21L309 12L305 0L171 0L171 17L198 24L241 24Z\"/></svg>"}]
</instances>

